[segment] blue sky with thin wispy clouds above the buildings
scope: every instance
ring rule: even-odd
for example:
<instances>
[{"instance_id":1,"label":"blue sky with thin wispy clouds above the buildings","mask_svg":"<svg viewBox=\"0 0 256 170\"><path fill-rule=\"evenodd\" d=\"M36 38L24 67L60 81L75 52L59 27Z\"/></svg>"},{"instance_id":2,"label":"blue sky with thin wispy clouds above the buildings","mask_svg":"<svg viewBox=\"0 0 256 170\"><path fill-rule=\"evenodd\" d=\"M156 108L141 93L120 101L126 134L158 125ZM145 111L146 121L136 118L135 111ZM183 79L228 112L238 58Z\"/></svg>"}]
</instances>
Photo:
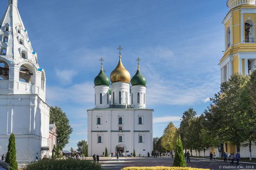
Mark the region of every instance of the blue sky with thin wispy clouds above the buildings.
<instances>
[{"instance_id":1,"label":"blue sky with thin wispy clouds above the buildings","mask_svg":"<svg viewBox=\"0 0 256 170\"><path fill-rule=\"evenodd\" d=\"M0 1L0 15L7 3ZM154 137L170 121L179 127L189 107L200 115L219 91L225 0L18 0L18 8L46 71L46 102L61 107L73 127L64 150L87 140L99 59L109 76L119 45L131 76L141 58Z\"/></svg>"}]
</instances>

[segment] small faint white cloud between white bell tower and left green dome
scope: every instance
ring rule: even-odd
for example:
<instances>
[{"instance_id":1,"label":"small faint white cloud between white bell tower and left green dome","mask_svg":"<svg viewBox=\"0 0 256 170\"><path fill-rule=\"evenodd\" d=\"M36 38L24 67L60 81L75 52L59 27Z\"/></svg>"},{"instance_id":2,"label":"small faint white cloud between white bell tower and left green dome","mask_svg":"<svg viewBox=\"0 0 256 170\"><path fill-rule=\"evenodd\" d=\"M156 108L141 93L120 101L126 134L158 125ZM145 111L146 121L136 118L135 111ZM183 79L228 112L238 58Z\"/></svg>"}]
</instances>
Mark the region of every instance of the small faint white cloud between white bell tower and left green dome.
<instances>
[{"instance_id":1,"label":"small faint white cloud between white bell tower and left green dome","mask_svg":"<svg viewBox=\"0 0 256 170\"><path fill-rule=\"evenodd\" d=\"M70 84L73 77L78 73L74 69L55 69L55 74L61 83Z\"/></svg>"}]
</instances>

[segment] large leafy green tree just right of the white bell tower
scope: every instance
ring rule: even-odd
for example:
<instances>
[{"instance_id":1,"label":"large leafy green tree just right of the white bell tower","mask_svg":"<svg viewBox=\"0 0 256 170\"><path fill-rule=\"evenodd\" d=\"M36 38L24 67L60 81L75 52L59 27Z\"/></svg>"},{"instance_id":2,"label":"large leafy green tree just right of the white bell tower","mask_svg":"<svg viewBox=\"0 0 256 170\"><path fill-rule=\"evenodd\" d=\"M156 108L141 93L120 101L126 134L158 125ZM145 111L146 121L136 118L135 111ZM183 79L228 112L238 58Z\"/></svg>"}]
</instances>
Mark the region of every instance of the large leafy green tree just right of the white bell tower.
<instances>
[{"instance_id":1,"label":"large leafy green tree just right of the white bell tower","mask_svg":"<svg viewBox=\"0 0 256 170\"><path fill-rule=\"evenodd\" d=\"M62 150L69 142L70 134L73 132L69 125L66 113L60 107L50 107L50 124L55 123L57 128L57 149Z\"/></svg>"}]
</instances>

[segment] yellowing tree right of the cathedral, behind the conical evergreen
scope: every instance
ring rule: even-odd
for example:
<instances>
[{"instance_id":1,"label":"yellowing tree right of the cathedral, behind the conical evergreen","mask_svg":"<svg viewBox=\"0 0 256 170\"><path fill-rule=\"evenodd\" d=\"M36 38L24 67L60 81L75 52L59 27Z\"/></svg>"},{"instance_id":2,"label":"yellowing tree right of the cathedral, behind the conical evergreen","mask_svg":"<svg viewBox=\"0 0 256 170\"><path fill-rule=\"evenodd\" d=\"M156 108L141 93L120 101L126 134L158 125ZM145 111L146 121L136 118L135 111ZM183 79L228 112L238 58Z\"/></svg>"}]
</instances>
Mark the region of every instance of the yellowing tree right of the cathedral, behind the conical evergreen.
<instances>
[{"instance_id":1,"label":"yellowing tree right of the cathedral, behind the conical evergreen","mask_svg":"<svg viewBox=\"0 0 256 170\"><path fill-rule=\"evenodd\" d=\"M177 128L172 122L166 126L162 135L162 147L166 151L174 151L177 140Z\"/></svg>"}]
</instances>

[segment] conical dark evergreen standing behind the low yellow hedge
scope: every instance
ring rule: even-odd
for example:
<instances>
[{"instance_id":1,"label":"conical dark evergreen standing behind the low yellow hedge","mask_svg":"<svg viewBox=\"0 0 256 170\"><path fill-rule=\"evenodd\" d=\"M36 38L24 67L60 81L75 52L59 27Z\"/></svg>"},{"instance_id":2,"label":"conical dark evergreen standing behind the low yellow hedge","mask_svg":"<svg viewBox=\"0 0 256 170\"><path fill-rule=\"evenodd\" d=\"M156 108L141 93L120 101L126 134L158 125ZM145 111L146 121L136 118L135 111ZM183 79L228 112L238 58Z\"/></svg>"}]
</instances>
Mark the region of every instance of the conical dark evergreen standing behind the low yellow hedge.
<instances>
[{"instance_id":1,"label":"conical dark evergreen standing behind the low yellow hedge","mask_svg":"<svg viewBox=\"0 0 256 170\"><path fill-rule=\"evenodd\" d=\"M176 149L175 149L175 158L173 162L173 166L176 167L186 167L186 161L183 153L183 146L182 146L182 140L179 136L176 142Z\"/></svg>"}]
</instances>

